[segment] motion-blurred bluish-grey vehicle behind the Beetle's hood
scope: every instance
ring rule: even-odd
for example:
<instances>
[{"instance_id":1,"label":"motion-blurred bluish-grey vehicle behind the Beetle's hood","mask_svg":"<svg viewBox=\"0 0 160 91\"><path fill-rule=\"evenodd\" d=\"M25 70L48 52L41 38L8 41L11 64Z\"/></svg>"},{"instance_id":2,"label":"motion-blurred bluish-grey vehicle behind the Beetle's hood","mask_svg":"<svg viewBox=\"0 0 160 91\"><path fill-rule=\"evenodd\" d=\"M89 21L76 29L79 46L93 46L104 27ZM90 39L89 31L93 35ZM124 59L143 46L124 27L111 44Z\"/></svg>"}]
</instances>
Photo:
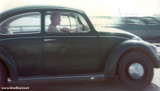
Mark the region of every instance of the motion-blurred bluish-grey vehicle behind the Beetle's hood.
<instances>
[{"instance_id":1,"label":"motion-blurred bluish-grey vehicle behind the Beetle's hood","mask_svg":"<svg viewBox=\"0 0 160 91\"><path fill-rule=\"evenodd\" d=\"M131 32L151 43L160 42L160 21L155 17L111 17L106 27Z\"/></svg>"}]
</instances>

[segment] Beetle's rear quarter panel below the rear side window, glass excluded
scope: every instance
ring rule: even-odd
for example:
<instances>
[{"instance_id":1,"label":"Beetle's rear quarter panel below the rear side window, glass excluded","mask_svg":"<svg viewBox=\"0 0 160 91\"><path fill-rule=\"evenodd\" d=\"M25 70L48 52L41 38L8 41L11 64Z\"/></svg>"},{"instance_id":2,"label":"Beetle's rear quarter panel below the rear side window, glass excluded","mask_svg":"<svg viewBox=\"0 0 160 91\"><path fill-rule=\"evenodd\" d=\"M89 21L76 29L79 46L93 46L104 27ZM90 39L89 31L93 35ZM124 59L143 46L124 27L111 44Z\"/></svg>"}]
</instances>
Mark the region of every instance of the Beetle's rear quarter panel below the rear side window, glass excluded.
<instances>
[{"instance_id":1,"label":"Beetle's rear quarter panel below the rear side window, glass excluded","mask_svg":"<svg viewBox=\"0 0 160 91\"><path fill-rule=\"evenodd\" d=\"M1 46L14 58L19 76L34 76L42 73L42 38L17 36L1 39L1 43Z\"/></svg>"}]
</instances>

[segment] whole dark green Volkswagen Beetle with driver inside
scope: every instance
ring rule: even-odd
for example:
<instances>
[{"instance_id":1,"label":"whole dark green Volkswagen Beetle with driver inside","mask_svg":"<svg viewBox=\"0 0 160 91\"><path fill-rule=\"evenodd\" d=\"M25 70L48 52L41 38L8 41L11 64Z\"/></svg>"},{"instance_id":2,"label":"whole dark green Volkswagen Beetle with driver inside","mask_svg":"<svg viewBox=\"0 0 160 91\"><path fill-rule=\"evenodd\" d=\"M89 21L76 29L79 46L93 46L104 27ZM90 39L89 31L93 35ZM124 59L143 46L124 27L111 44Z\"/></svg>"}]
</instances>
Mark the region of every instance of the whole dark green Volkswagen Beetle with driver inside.
<instances>
[{"instance_id":1,"label":"whole dark green Volkswagen Beetle with driver inside","mask_svg":"<svg viewBox=\"0 0 160 91\"><path fill-rule=\"evenodd\" d=\"M118 76L125 86L137 89L151 83L158 67L154 45L118 29L95 30L81 10L36 6L0 14L1 87L8 78Z\"/></svg>"}]
</instances>

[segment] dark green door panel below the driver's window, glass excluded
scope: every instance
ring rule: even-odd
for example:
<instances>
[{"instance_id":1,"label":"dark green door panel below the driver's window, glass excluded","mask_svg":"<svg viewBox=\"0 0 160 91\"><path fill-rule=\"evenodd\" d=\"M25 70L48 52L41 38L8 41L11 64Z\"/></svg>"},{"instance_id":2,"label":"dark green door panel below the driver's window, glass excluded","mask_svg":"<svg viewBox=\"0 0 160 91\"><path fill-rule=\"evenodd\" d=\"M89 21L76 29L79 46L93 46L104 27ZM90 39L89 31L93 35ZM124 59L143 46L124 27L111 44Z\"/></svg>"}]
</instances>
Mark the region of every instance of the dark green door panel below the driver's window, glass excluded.
<instances>
[{"instance_id":1,"label":"dark green door panel below the driver's window, glass excluded","mask_svg":"<svg viewBox=\"0 0 160 91\"><path fill-rule=\"evenodd\" d=\"M44 41L45 75L99 71L99 43L95 34L50 35L46 39L49 40Z\"/></svg>"}]
</instances>

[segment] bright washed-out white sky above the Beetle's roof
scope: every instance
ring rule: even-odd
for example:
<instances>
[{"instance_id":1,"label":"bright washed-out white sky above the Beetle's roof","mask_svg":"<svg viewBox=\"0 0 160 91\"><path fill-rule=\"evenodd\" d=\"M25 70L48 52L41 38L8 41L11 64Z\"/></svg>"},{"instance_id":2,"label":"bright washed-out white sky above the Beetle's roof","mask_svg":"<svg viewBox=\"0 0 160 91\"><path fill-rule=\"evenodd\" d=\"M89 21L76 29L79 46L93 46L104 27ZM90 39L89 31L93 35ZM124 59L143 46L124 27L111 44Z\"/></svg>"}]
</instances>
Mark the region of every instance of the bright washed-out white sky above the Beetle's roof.
<instances>
[{"instance_id":1,"label":"bright washed-out white sky above the Beetle's roof","mask_svg":"<svg viewBox=\"0 0 160 91\"><path fill-rule=\"evenodd\" d=\"M160 15L160 0L0 0L0 12L28 5L72 7L89 16Z\"/></svg>"}]
</instances>

